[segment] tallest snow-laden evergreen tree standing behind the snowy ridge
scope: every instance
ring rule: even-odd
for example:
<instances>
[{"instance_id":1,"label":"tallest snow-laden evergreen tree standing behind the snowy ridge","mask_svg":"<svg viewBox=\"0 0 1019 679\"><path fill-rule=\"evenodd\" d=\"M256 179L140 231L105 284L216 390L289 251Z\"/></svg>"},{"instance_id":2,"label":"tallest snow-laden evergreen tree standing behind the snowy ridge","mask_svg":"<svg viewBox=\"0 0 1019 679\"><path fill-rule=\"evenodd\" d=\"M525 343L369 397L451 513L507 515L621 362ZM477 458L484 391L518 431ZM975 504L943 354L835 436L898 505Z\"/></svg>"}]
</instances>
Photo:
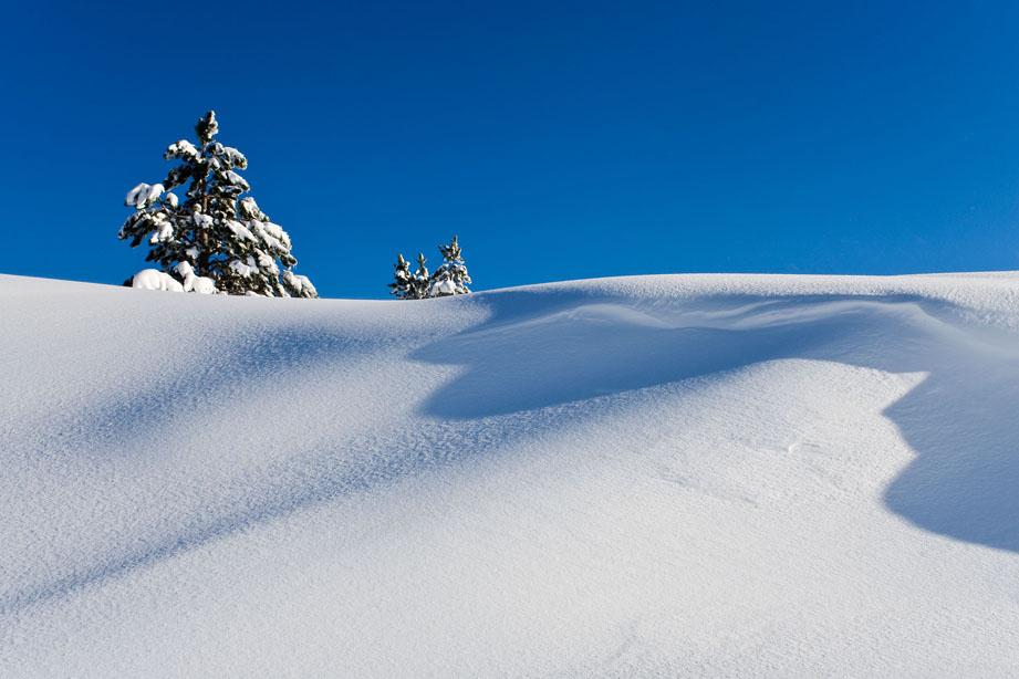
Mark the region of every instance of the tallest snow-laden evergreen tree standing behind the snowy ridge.
<instances>
[{"instance_id":1,"label":"tallest snow-laden evergreen tree standing behind the snowy ridge","mask_svg":"<svg viewBox=\"0 0 1019 679\"><path fill-rule=\"evenodd\" d=\"M125 205L135 213L121 227L121 240L146 242L146 261L158 264L132 279L133 288L200 293L318 297L315 286L292 268L290 237L258 207L243 177L248 159L214 140L219 124L210 111L198 121L198 146L181 139L164 158L180 160L163 184L139 184ZM171 192L190 182L186 198Z\"/></svg>"}]
</instances>

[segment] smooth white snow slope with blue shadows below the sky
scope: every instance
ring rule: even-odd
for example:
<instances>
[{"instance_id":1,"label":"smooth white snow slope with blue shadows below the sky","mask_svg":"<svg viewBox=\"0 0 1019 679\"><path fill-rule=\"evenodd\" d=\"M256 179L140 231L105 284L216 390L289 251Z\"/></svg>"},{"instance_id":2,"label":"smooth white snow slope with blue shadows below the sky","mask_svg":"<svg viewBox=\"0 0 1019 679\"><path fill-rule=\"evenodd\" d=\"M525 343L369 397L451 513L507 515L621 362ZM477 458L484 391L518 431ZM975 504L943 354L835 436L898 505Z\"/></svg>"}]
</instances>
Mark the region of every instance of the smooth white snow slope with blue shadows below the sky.
<instances>
[{"instance_id":1,"label":"smooth white snow slope with blue shadows below the sky","mask_svg":"<svg viewBox=\"0 0 1019 679\"><path fill-rule=\"evenodd\" d=\"M1009 677L1019 274L0 276L0 677Z\"/></svg>"}]
</instances>

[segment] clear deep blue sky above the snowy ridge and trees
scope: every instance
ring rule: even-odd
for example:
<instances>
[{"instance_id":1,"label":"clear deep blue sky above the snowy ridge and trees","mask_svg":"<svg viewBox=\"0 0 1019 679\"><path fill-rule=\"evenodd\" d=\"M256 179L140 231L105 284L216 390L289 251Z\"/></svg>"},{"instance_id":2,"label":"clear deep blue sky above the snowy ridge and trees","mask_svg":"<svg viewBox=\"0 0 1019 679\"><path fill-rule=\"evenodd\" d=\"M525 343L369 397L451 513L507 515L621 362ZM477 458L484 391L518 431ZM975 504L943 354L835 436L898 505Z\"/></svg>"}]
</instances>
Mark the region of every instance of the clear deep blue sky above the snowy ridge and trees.
<instances>
[{"instance_id":1,"label":"clear deep blue sky above the snowy ridge and trees","mask_svg":"<svg viewBox=\"0 0 1019 679\"><path fill-rule=\"evenodd\" d=\"M121 283L208 108L323 296L1019 269L1019 3L11 4L0 272ZM196 9L199 8L200 9Z\"/></svg>"}]
</instances>

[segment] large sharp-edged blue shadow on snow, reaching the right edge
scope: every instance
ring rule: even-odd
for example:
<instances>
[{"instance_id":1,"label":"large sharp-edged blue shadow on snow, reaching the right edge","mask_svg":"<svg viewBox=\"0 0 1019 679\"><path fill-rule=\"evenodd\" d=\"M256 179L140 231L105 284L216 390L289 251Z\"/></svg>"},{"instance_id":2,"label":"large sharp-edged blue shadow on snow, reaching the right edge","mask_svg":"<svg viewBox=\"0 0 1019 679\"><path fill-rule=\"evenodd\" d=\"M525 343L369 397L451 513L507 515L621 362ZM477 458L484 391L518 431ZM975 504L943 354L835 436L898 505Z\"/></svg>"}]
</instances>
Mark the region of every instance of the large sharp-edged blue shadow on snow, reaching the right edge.
<instances>
[{"instance_id":1,"label":"large sharp-edged blue shadow on snow, reaching the right edge","mask_svg":"<svg viewBox=\"0 0 1019 679\"><path fill-rule=\"evenodd\" d=\"M600 295L489 296L491 318L413 357L464 367L425 414L506 415L809 358L927 373L884 415L916 458L885 505L924 530L1019 552L1019 342L915 296L719 297L636 302Z\"/></svg>"}]
</instances>

